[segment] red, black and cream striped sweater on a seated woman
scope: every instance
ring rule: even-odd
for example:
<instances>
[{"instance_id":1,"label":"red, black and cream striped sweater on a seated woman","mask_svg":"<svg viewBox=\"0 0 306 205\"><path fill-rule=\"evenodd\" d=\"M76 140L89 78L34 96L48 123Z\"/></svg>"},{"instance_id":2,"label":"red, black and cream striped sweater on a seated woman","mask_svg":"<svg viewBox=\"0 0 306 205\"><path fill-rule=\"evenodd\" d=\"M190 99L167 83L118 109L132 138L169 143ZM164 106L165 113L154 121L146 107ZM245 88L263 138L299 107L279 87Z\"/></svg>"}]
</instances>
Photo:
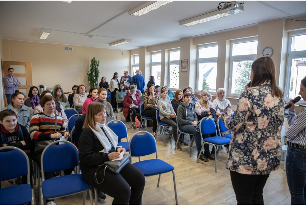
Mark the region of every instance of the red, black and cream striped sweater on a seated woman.
<instances>
[{"instance_id":1,"label":"red, black and cream striped sweater on a seated woman","mask_svg":"<svg viewBox=\"0 0 306 205\"><path fill-rule=\"evenodd\" d=\"M56 132L66 131L63 118L57 116ZM48 140L50 133L55 130L55 116L49 117L42 112L34 114L30 122L30 137L34 140Z\"/></svg>"}]
</instances>

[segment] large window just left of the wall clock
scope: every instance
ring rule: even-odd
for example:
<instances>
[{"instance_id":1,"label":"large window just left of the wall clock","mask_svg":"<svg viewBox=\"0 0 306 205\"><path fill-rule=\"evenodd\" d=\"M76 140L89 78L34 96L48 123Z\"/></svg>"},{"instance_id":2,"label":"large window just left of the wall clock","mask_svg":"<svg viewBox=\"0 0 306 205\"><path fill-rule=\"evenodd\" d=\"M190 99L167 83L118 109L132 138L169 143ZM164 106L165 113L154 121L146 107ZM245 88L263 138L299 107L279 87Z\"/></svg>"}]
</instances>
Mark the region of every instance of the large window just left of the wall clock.
<instances>
[{"instance_id":1,"label":"large window just left of the wall clock","mask_svg":"<svg viewBox=\"0 0 306 205\"><path fill-rule=\"evenodd\" d=\"M229 96L239 97L251 81L251 66L256 56L257 37L231 41Z\"/></svg>"}]
</instances>

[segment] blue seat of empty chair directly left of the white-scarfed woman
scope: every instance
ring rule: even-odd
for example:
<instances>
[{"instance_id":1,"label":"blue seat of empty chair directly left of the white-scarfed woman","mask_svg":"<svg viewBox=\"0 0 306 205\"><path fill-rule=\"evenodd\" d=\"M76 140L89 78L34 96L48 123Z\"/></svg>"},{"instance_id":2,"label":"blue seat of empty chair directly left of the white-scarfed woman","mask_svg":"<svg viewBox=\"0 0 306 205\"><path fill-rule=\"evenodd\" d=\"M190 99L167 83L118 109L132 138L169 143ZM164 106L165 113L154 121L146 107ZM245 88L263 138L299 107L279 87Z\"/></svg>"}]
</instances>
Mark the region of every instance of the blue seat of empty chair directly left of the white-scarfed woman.
<instances>
[{"instance_id":1,"label":"blue seat of empty chair directly left of the white-scarfed woman","mask_svg":"<svg viewBox=\"0 0 306 205\"><path fill-rule=\"evenodd\" d=\"M69 174L62 177L47 179L42 183L43 197L54 199L61 196L78 193L90 186L82 180L81 174Z\"/></svg>"}]
</instances>

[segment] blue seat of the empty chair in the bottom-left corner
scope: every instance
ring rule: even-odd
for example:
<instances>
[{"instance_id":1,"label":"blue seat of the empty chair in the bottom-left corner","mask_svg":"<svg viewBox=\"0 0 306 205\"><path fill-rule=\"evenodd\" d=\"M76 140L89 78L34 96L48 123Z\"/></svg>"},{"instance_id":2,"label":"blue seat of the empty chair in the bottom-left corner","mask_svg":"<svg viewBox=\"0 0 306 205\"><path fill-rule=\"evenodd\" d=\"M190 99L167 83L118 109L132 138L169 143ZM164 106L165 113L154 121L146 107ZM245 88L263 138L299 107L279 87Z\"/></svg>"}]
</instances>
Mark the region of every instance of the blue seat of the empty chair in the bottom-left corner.
<instances>
[{"instance_id":1,"label":"blue seat of the empty chair in the bottom-left corner","mask_svg":"<svg viewBox=\"0 0 306 205\"><path fill-rule=\"evenodd\" d=\"M0 204L27 204L32 200L30 184L20 184L0 189Z\"/></svg>"}]
</instances>

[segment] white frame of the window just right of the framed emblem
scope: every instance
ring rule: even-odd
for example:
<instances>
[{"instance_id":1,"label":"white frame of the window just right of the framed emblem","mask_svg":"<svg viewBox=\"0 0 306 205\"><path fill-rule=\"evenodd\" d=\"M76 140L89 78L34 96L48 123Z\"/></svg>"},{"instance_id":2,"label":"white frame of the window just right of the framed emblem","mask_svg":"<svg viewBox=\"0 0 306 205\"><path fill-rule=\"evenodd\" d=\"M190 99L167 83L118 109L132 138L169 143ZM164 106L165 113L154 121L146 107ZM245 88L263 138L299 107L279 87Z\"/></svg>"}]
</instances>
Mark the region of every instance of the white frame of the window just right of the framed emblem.
<instances>
[{"instance_id":1,"label":"white frame of the window just right of the framed emblem","mask_svg":"<svg viewBox=\"0 0 306 205\"><path fill-rule=\"evenodd\" d=\"M196 73L196 93L201 93L202 88L199 89L199 66L200 63L218 63L218 56L217 57L213 57L213 58L199 58L199 50L200 48L207 48L207 47L215 47L218 46L218 42L217 43L211 43L211 44L204 44L204 45L199 45L198 46L198 54L197 54L197 73ZM219 47L218 47L219 50ZM217 64L218 65L218 64ZM218 75L218 73L217 73ZM208 93L210 93L211 95L215 95L216 90L210 89L208 91Z\"/></svg>"}]
</instances>

